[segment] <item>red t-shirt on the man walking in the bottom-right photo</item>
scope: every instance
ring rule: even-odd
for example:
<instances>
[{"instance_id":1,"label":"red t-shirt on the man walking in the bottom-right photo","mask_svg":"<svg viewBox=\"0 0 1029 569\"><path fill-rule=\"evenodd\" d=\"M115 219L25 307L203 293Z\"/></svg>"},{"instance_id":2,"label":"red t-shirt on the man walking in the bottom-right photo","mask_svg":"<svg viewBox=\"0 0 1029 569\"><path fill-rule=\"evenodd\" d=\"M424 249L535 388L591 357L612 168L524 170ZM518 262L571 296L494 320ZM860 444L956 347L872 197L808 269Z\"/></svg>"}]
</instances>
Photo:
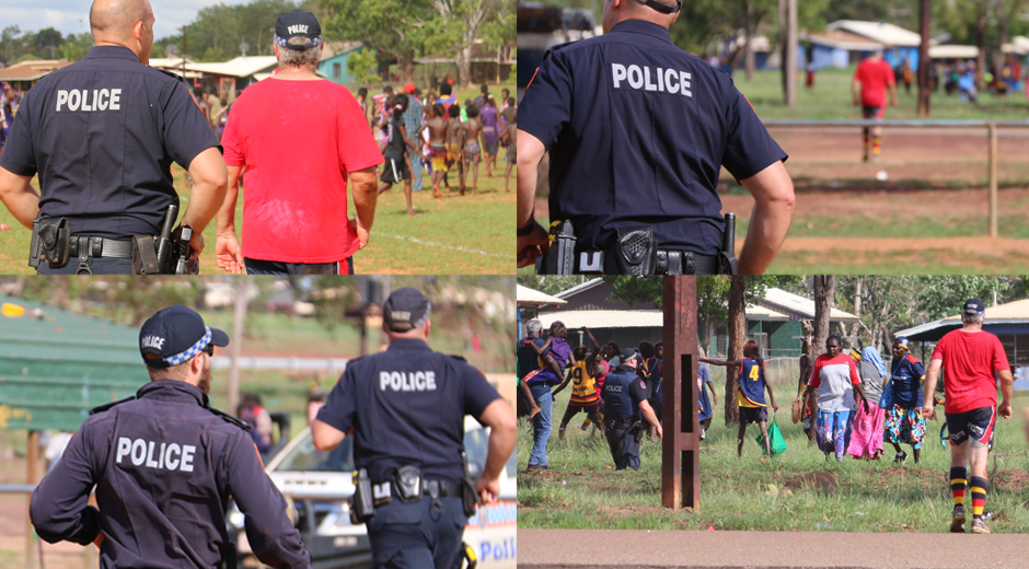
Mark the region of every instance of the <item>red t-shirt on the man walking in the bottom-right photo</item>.
<instances>
[{"instance_id":1,"label":"red t-shirt on the man walking in the bottom-right photo","mask_svg":"<svg viewBox=\"0 0 1029 569\"><path fill-rule=\"evenodd\" d=\"M988 332L953 330L939 339L934 360L944 361L946 413L966 413L997 405L995 371L1009 370L1007 353Z\"/></svg>"}]
</instances>

